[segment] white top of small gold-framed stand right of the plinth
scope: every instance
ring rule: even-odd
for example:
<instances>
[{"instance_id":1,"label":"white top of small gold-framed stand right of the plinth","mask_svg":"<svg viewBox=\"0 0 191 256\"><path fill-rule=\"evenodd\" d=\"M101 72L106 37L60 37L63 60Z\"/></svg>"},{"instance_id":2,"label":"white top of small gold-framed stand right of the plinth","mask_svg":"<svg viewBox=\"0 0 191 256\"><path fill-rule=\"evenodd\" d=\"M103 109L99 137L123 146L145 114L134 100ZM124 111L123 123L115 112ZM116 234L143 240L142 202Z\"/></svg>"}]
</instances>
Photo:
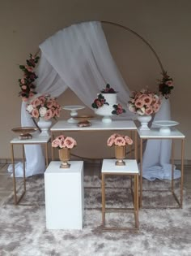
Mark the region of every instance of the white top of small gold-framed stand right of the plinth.
<instances>
[{"instance_id":1,"label":"white top of small gold-framed stand right of the plinth","mask_svg":"<svg viewBox=\"0 0 191 256\"><path fill-rule=\"evenodd\" d=\"M115 165L117 159L104 159L101 168L102 173L124 173L124 174L138 174L138 164L136 160L124 159L124 166Z\"/></svg>"}]
</instances>

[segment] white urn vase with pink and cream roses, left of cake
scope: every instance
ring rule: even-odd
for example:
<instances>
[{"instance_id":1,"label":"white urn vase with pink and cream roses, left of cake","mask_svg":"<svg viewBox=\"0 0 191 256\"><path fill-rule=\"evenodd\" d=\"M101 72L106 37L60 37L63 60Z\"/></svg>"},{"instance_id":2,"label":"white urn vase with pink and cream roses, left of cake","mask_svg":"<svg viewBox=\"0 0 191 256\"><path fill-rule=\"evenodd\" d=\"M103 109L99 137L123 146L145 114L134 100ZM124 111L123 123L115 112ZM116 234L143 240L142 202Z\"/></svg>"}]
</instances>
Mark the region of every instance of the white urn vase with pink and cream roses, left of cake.
<instances>
[{"instance_id":1,"label":"white urn vase with pink and cream roses, left of cake","mask_svg":"<svg viewBox=\"0 0 191 256\"><path fill-rule=\"evenodd\" d=\"M62 108L57 103L56 98L50 98L50 95L41 95L34 98L28 105L27 111L32 118L38 119L37 125L40 128L40 136L49 136L49 128L52 125L51 119L57 119L60 116Z\"/></svg>"}]
</instances>

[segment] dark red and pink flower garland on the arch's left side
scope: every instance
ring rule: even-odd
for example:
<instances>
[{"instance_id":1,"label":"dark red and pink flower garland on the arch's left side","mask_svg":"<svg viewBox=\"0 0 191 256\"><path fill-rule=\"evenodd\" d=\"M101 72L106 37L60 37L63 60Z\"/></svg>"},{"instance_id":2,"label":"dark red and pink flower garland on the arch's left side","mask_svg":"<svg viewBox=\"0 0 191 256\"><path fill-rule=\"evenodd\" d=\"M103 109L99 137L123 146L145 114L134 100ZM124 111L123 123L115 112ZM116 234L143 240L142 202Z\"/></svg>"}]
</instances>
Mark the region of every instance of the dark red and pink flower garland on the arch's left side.
<instances>
[{"instance_id":1,"label":"dark red and pink flower garland on the arch's left side","mask_svg":"<svg viewBox=\"0 0 191 256\"><path fill-rule=\"evenodd\" d=\"M36 94L36 85L34 85L34 82L37 76L34 68L39 59L40 57L30 54L30 58L26 60L26 65L19 65L19 68L23 72L23 78L19 79L19 96L22 97L23 102L27 102L29 98L32 98Z\"/></svg>"}]
</instances>

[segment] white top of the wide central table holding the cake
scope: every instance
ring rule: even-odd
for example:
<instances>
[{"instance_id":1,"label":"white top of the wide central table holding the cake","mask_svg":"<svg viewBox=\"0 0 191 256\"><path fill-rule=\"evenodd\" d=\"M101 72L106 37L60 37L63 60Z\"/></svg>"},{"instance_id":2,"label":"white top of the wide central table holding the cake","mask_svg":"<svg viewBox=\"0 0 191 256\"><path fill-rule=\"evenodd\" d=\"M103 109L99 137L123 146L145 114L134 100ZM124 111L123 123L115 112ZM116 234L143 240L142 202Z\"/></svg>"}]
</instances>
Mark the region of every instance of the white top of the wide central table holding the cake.
<instances>
[{"instance_id":1,"label":"white top of the wide central table holding the cake","mask_svg":"<svg viewBox=\"0 0 191 256\"><path fill-rule=\"evenodd\" d=\"M105 124L100 119L91 120L91 126L79 127L78 124L68 123L66 120L59 120L50 128L50 131L101 131L101 130L137 130L132 120L112 120L111 123Z\"/></svg>"}]
</instances>

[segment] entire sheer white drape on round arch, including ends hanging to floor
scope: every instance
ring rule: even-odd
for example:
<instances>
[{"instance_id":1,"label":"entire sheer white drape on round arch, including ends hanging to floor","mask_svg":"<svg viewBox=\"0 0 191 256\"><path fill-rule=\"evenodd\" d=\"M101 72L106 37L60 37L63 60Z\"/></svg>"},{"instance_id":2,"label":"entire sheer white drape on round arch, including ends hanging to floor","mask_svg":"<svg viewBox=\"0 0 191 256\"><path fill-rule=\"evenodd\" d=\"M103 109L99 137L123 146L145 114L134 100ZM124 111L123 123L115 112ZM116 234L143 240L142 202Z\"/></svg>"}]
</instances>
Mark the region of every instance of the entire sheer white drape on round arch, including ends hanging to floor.
<instances>
[{"instance_id":1,"label":"entire sheer white drape on round arch, including ends hanging to floor","mask_svg":"<svg viewBox=\"0 0 191 256\"><path fill-rule=\"evenodd\" d=\"M57 97L69 87L86 106L91 107L95 95L108 83L119 92L117 101L125 108L125 117L135 118L127 108L129 89L112 59L100 22L85 22L65 28L44 41L40 50L41 58L36 71L39 77L36 83L38 93L50 93ZM25 103L22 104L21 116L23 126L33 125ZM149 145L147 149L147 145L146 150L153 153L153 146ZM45 171L45 158L39 145L26 146L25 153L26 176ZM159 154L163 152L159 150L156 153L157 159ZM151 167L153 158L153 154L152 158L147 155L143 160L146 168ZM15 175L23 176L21 163L15 166Z\"/></svg>"}]
</instances>

